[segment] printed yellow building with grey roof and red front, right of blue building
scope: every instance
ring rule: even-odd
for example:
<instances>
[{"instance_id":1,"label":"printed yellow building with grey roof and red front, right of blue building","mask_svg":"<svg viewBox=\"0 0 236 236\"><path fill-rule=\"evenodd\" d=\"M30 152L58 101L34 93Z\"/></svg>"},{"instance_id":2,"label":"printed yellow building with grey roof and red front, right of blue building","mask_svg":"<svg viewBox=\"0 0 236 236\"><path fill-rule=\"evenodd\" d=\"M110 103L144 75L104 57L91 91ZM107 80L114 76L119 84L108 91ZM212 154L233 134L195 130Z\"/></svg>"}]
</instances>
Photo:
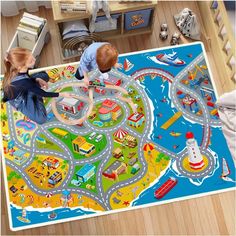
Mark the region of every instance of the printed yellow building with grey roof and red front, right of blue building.
<instances>
[{"instance_id":1,"label":"printed yellow building with grey roof and red front, right of blue building","mask_svg":"<svg viewBox=\"0 0 236 236\"><path fill-rule=\"evenodd\" d=\"M102 174L108 179L117 180L124 173L127 173L127 164L116 160Z\"/></svg>"}]
</instances>

